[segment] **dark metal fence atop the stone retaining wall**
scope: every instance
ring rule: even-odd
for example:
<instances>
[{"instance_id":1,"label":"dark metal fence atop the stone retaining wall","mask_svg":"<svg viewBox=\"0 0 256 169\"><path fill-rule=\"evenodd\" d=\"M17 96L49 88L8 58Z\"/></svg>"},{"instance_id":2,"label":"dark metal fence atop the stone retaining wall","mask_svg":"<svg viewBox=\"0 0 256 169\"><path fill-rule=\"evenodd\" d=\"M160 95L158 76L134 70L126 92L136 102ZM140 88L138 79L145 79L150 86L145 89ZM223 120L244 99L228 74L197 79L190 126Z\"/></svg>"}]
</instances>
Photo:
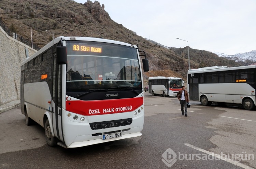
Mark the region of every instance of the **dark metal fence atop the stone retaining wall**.
<instances>
[{"instance_id":1,"label":"dark metal fence atop the stone retaining wall","mask_svg":"<svg viewBox=\"0 0 256 169\"><path fill-rule=\"evenodd\" d=\"M40 48L37 46L37 45L32 45L32 43L25 39L24 37L22 36L19 36L16 32L12 32L7 26L5 26L4 22L0 19L0 26L3 28L3 30L11 37L13 37L14 39L28 45L28 46L31 46L33 49L35 50L39 50Z\"/></svg>"}]
</instances>

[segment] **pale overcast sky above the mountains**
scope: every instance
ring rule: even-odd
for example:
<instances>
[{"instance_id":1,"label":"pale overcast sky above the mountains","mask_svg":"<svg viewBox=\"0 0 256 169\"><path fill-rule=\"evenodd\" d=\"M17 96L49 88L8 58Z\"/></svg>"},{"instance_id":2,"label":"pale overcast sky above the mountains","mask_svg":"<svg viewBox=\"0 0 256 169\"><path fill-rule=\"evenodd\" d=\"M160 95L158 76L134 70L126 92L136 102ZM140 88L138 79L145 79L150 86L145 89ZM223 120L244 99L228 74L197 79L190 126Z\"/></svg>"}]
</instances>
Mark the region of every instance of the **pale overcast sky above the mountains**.
<instances>
[{"instance_id":1,"label":"pale overcast sky above the mountains","mask_svg":"<svg viewBox=\"0 0 256 169\"><path fill-rule=\"evenodd\" d=\"M256 0L97 1L118 24L167 47L188 41L190 48L227 55L256 50Z\"/></svg>"}]
</instances>

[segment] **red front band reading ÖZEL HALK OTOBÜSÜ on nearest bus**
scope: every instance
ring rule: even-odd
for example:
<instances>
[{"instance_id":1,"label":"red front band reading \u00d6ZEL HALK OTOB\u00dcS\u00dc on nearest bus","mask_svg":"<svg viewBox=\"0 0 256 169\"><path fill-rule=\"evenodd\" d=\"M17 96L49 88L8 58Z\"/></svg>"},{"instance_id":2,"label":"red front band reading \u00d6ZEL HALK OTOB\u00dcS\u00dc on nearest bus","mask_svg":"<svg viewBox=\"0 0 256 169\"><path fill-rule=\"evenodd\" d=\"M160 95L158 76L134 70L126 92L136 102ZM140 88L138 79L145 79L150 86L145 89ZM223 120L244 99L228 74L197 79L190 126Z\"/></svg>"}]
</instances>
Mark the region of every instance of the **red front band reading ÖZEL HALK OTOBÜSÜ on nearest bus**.
<instances>
[{"instance_id":1,"label":"red front band reading \u00d6ZEL HALK OTOB\u00dcS\u00dc on nearest bus","mask_svg":"<svg viewBox=\"0 0 256 169\"><path fill-rule=\"evenodd\" d=\"M143 97L99 101L66 101L66 110L83 116L134 111L143 105Z\"/></svg>"}]
</instances>

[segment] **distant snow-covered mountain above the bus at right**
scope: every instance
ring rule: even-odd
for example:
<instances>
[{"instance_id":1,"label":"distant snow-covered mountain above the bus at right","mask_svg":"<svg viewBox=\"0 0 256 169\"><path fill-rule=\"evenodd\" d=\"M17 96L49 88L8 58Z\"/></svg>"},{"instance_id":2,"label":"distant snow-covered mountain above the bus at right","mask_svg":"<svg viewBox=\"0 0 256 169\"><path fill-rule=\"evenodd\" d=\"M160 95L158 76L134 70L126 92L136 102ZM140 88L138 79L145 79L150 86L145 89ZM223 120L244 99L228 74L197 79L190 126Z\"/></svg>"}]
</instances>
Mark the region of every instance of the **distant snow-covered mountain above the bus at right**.
<instances>
[{"instance_id":1,"label":"distant snow-covered mountain above the bus at right","mask_svg":"<svg viewBox=\"0 0 256 169\"><path fill-rule=\"evenodd\" d=\"M226 55L224 53L214 52L219 57L224 57L226 59L234 60L241 66L246 66L256 63L256 50L245 53L237 53L235 55Z\"/></svg>"}]
</instances>

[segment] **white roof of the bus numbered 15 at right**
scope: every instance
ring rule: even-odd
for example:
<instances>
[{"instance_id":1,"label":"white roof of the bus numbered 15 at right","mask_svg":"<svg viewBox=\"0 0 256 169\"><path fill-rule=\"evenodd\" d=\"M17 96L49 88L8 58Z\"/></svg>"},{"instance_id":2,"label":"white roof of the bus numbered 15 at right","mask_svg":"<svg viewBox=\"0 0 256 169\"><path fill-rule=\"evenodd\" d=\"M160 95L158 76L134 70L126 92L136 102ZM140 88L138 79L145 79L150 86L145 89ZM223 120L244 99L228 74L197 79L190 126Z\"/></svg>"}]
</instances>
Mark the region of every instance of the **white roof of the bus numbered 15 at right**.
<instances>
[{"instance_id":1,"label":"white roof of the bus numbered 15 at right","mask_svg":"<svg viewBox=\"0 0 256 169\"><path fill-rule=\"evenodd\" d=\"M216 68L214 68L216 67ZM189 73L201 73L201 72L218 72L218 71L229 71L229 70L238 70L238 69L246 69L246 68L255 68L256 65L249 66L237 66L237 67L227 67L227 66L212 66L212 67L202 67L198 69L190 69Z\"/></svg>"}]
</instances>

